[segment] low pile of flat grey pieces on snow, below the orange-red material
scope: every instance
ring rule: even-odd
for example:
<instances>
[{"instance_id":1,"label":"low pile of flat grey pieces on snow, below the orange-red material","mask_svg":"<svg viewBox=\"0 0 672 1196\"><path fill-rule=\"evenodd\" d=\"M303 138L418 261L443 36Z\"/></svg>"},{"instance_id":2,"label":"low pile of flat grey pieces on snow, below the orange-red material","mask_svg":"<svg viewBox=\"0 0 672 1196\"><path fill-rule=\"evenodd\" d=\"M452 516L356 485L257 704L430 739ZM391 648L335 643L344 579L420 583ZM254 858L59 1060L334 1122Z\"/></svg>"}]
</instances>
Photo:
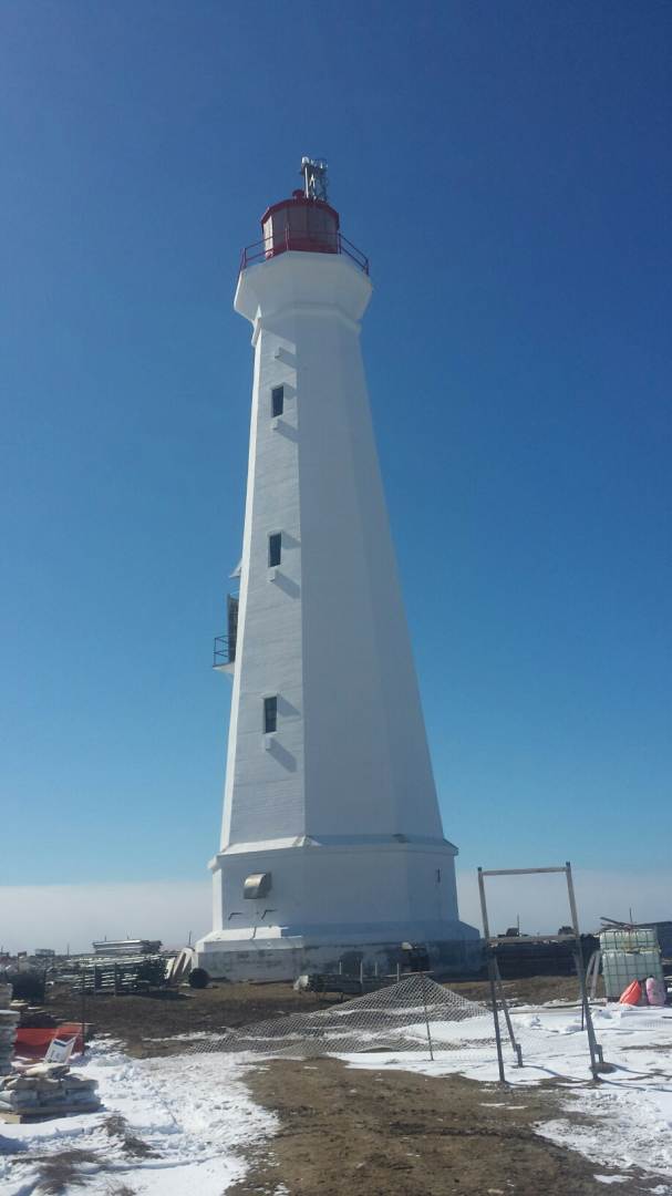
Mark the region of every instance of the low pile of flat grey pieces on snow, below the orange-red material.
<instances>
[{"instance_id":1,"label":"low pile of flat grey pieces on snow, below the orange-red material","mask_svg":"<svg viewBox=\"0 0 672 1196\"><path fill-rule=\"evenodd\" d=\"M0 1118L33 1121L93 1112L100 1106L96 1080L73 1075L66 1063L38 1063L0 1079Z\"/></svg>"}]
</instances>

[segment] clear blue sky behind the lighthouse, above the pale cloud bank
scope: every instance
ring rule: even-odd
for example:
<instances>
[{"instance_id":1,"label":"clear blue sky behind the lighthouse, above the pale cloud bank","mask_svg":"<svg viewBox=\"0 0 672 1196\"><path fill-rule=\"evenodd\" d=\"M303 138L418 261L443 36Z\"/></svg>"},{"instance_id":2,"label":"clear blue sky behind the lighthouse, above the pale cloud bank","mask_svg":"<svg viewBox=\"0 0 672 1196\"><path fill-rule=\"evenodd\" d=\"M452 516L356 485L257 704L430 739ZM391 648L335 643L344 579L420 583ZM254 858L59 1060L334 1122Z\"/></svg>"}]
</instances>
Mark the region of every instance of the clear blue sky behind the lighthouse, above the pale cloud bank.
<instances>
[{"instance_id":1,"label":"clear blue sky behind the lighthouse, above the pale cloud bank","mask_svg":"<svg viewBox=\"0 0 672 1196\"><path fill-rule=\"evenodd\" d=\"M647 0L5 0L1 881L185 880L216 849L231 300L303 153L372 260L462 866L668 866L671 51Z\"/></svg>"}]
</instances>

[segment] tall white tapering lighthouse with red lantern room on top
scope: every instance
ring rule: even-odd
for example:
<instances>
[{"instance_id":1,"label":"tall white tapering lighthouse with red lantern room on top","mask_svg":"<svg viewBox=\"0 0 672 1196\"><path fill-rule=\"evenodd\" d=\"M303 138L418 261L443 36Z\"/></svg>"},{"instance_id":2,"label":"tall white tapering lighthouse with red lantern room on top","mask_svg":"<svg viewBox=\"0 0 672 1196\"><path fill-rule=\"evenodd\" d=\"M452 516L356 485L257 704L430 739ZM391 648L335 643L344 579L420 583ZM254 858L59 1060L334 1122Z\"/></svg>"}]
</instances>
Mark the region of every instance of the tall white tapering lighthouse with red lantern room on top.
<instances>
[{"instance_id":1,"label":"tall white tapering lighthouse with red lantern room on top","mask_svg":"<svg viewBox=\"0 0 672 1196\"><path fill-rule=\"evenodd\" d=\"M231 980L460 965L459 921L361 353L368 261L326 167L262 216L234 309L255 350L243 551L215 667L232 677L213 929Z\"/></svg>"}]
</instances>

